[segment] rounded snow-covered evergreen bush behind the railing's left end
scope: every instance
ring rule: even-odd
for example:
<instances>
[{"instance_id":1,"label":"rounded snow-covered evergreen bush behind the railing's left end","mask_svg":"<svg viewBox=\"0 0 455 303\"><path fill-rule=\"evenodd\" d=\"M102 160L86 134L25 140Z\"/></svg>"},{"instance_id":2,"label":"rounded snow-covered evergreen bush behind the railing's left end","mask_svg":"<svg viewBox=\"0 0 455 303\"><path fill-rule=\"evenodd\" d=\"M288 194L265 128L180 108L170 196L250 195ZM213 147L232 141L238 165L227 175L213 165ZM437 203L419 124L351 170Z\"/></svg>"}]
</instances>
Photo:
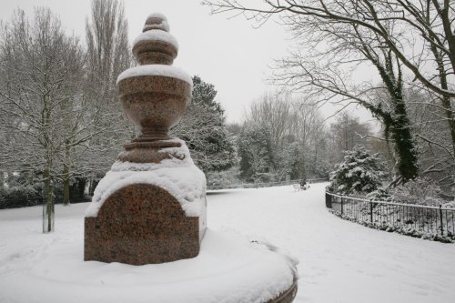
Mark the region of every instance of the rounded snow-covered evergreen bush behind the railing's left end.
<instances>
[{"instance_id":1,"label":"rounded snow-covered evergreen bush behind the railing's left end","mask_svg":"<svg viewBox=\"0 0 455 303\"><path fill-rule=\"evenodd\" d=\"M344 161L330 173L329 189L340 195L370 193L381 185L386 175L385 164L379 154L370 155L363 146L345 152Z\"/></svg>"}]
</instances>

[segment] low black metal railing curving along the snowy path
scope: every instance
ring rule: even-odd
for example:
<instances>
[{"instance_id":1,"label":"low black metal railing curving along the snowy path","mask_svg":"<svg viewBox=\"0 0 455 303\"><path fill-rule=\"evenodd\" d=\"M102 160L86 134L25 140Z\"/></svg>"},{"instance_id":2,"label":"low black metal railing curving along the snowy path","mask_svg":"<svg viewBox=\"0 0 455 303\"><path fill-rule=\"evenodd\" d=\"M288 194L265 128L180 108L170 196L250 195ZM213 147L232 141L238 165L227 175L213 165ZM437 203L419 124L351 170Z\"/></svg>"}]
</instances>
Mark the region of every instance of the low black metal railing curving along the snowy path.
<instances>
[{"instance_id":1,"label":"low black metal railing curving along the snowy path","mask_svg":"<svg viewBox=\"0 0 455 303\"><path fill-rule=\"evenodd\" d=\"M345 197L326 191L326 207L341 217L382 227L401 227L422 234L454 237L455 208L431 207ZM413 229L412 229L413 228Z\"/></svg>"}]
</instances>

